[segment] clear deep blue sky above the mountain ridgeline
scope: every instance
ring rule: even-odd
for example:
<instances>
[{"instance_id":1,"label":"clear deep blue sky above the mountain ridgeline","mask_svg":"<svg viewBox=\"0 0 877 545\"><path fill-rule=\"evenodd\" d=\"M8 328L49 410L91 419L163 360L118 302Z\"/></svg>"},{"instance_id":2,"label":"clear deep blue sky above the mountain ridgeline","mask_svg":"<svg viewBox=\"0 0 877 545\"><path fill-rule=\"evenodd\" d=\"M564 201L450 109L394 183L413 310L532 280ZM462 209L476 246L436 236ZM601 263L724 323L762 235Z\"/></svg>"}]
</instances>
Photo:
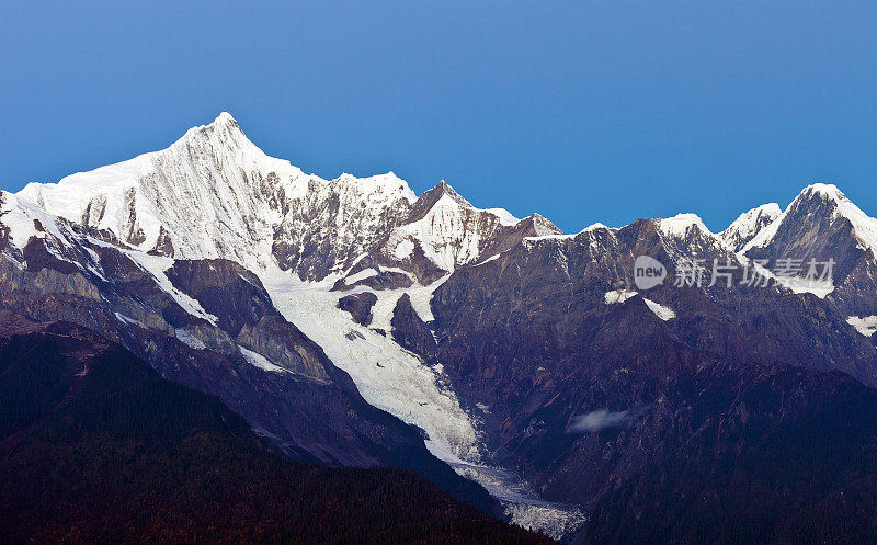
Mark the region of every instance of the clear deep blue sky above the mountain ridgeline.
<instances>
[{"instance_id":1,"label":"clear deep blue sky above the mountain ridgeline","mask_svg":"<svg viewBox=\"0 0 877 545\"><path fill-rule=\"evenodd\" d=\"M875 2L0 1L0 189L227 110L334 178L445 179L566 231L714 230L836 183L877 214Z\"/></svg>"}]
</instances>

